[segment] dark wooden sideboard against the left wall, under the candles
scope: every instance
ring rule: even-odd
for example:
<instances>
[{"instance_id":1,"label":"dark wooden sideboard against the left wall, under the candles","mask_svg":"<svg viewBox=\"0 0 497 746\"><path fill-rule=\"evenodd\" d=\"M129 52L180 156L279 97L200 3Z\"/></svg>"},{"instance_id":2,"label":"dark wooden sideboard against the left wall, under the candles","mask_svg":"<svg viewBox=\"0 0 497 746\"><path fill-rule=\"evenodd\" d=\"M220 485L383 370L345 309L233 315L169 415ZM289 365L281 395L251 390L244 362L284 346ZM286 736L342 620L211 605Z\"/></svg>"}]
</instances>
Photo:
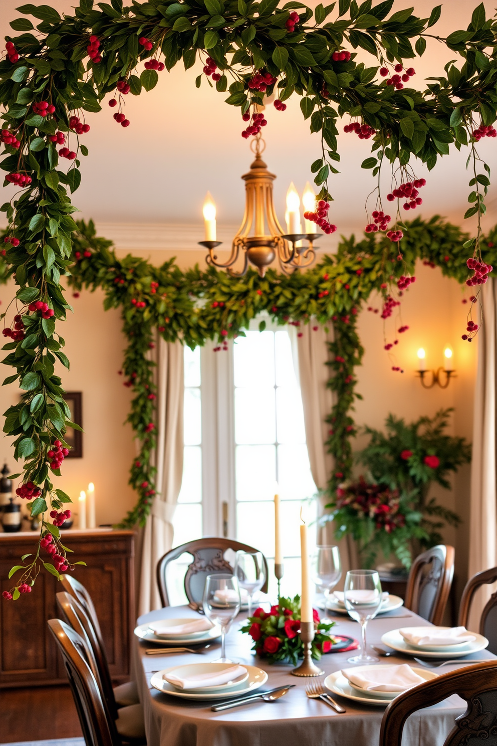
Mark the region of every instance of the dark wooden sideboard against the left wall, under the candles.
<instances>
[{"instance_id":1,"label":"dark wooden sideboard against the left wall, under the candles","mask_svg":"<svg viewBox=\"0 0 497 746\"><path fill-rule=\"evenodd\" d=\"M63 531L63 543L75 553L74 577L92 596L104 636L110 674L118 683L130 670L130 636L134 622L133 531L112 529ZM0 533L1 591L12 585L8 573L23 554L33 552L36 533ZM62 591L53 575L40 571L30 594L17 601L0 599L0 689L67 683L62 661L48 630L60 616L55 594Z\"/></svg>"}]
</instances>

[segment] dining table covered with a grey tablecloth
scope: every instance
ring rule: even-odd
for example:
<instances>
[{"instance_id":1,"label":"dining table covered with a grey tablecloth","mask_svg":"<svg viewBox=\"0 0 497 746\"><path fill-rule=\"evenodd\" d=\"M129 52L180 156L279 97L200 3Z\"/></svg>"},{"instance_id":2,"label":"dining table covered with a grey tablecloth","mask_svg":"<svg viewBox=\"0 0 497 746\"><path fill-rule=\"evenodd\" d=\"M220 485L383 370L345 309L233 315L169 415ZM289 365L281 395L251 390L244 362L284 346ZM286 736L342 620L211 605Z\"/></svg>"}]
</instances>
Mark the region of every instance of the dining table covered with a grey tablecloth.
<instances>
[{"instance_id":1,"label":"dining table covered with a grey tablecloth","mask_svg":"<svg viewBox=\"0 0 497 746\"><path fill-rule=\"evenodd\" d=\"M168 606L142 615L137 624L167 618L199 618L189 606ZM247 617L241 613L227 633L227 656L242 665L256 665L268 673L263 689L294 684L288 694L274 702L254 700L233 709L213 712L212 701L186 700L159 692L151 686L151 676L177 665L214 661L220 657L221 645L216 641L202 655L166 653L146 655L156 648L151 642L133 639L133 664L145 716L148 746L377 746L384 707L361 703L333 695L346 708L339 714L327 703L306 696L306 683L311 678L291 675L291 664L275 663L256 656L252 639L240 628ZM324 617L324 612L321 612ZM360 637L360 626L346 615L332 615L332 633ZM402 607L378 615L367 625L367 641L382 645L382 635L399 627L431 626L428 621ZM374 651L368 649L370 654ZM319 661L325 676L350 666L347 658L354 652L326 653ZM445 674L468 665L471 661L497 659L487 650L472 653L456 664L443 665L437 673ZM413 662L402 653L383 657L379 662L399 664ZM430 669L434 670L434 669ZM323 677L320 677L323 680ZM221 698L222 699L222 698ZM442 746L455 724L455 718L466 710L466 703L453 695L435 706L417 711L405 724L402 746Z\"/></svg>"}]
</instances>

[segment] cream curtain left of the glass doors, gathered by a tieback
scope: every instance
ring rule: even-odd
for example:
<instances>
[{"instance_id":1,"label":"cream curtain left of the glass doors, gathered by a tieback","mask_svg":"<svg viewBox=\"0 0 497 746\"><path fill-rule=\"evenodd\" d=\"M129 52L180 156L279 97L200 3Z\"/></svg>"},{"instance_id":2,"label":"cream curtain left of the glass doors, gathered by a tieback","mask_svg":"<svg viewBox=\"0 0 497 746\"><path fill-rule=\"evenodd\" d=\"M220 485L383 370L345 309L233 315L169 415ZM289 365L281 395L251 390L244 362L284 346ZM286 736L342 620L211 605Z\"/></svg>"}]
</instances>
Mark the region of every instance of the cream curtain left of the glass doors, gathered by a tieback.
<instances>
[{"instance_id":1,"label":"cream curtain left of the glass doors, gathered by a tieback","mask_svg":"<svg viewBox=\"0 0 497 746\"><path fill-rule=\"evenodd\" d=\"M156 342L156 497L141 537L139 615L161 607L157 561L173 545L172 520L183 478L183 345Z\"/></svg>"}]
</instances>

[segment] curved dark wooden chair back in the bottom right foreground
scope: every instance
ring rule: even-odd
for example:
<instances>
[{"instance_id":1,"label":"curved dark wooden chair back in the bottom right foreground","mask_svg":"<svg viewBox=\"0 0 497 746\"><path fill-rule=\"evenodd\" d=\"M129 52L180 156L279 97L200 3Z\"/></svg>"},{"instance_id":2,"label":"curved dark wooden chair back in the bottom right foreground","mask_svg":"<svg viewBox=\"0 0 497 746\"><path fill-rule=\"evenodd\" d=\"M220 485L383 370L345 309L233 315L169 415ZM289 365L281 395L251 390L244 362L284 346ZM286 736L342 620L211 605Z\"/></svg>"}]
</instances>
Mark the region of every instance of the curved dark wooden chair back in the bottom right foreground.
<instances>
[{"instance_id":1,"label":"curved dark wooden chair back in the bottom right foreground","mask_svg":"<svg viewBox=\"0 0 497 746\"><path fill-rule=\"evenodd\" d=\"M402 730L409 715L418 709L459 695L467 709L455 719L455 727L443 746L497 743L497 660L484 661L451 671L403 692L387 706L380 730L380 746L401 746ZM433 742L434 743L434 742Z\"/></svg>"}]
</instances>

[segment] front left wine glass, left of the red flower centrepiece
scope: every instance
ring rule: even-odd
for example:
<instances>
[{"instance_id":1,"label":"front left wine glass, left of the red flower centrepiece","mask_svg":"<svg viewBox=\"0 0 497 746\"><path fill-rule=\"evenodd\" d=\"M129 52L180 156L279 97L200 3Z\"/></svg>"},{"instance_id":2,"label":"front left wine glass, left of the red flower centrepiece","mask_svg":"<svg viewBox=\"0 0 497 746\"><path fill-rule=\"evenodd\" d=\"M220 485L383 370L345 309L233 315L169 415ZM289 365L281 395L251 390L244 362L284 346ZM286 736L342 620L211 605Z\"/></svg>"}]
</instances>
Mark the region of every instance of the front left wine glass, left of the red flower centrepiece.
<instances>
[{"instance_id":1,"label":"front left wine glass, left of the red flower centrepiece","mask_svg":"<svg viewBox=\"0 0 497 746\"><path fill-rule=\"evenodd\" d=\"M224 638L241 606L240 588L235 575L207 575L202 606L206 617L221 627L221 658L218 658L218 662L232 663L226 657Z\"/></svg>"}]
</instances>

